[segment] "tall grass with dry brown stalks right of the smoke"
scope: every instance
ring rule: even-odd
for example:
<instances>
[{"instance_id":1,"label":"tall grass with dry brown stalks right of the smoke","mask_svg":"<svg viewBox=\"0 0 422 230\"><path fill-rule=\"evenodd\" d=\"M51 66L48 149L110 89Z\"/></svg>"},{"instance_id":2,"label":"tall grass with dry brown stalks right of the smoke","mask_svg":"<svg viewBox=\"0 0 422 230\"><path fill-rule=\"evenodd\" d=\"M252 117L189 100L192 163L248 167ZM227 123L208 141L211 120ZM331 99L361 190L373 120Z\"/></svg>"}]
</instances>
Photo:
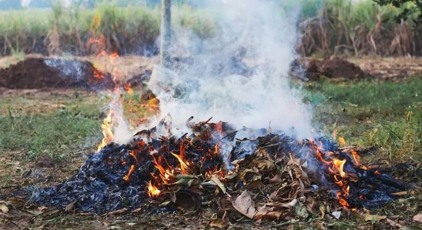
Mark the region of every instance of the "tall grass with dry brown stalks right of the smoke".
<instances>
[{"instance_id":1,"label":"tall grass with dry brown stalks right of the smoke","mask_svg":"<svg viewBox=\"0 0 422 230\"><path fill-rule=\"evenodd\" d=\"M413 22L417 15L397 22L402 10L391 5L380 7L370 0L326 0L321 10L301 23L303 36L297 49L303 55L323 56L421 55L422 28Z\"/></svg>"}]
</instances>

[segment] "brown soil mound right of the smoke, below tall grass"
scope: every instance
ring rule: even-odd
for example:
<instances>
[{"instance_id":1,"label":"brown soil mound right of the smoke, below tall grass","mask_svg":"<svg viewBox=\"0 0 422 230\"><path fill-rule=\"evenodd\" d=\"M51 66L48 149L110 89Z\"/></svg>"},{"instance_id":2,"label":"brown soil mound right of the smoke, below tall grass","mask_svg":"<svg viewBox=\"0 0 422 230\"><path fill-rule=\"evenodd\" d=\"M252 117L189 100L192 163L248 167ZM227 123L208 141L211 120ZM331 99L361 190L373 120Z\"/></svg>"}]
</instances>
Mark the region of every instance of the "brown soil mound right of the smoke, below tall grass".
<instances>
[{"instance_id":1,"label":"brown soil mound right of the smoke, below tall grass","mask_svg":"<svg viewBox=\"0 0 422 230\"><path fill-rule=\"evenodd\" d=\"M362 69L343 59L296 59L291 64L294 77L310 81L319 80L320 76L328 78L362 79L368 76Z\"/></svg>"}]
</instances>

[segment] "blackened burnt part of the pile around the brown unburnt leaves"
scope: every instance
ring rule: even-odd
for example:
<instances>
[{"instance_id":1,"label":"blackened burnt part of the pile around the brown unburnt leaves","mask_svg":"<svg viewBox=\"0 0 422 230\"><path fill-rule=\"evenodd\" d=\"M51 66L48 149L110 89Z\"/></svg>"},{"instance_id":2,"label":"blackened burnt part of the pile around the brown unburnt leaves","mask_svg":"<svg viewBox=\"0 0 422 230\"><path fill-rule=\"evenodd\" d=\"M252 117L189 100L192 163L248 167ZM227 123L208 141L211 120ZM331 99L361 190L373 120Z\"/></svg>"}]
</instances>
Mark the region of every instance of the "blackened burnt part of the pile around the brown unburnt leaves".
<instances>
[{"instance_id":1,"label":"blackened burnt part of the pile around the brown unburnt leaves","mask_svg":"<svg viewBox=\"0 0 422 230\"><path fill-rule=\"evenodd\" d=\"M127 145L109 144L88 157L68 181L49 188L27 188L29 200L61 209L73 203L78 211L97 214L122 208L135 209L147 198L145 187L148 181L159 178L159 169L154 164L174 169L179 167L180 163L171 153L184 155L185 159L193 164L190 165L188 173L204 175L210 170L225 168L221 154L216 154L217 149L227 153L228 159L231 160L245 157L242 164L251 164L251 154L259 149L265 149L266 157L279 166L286 164L290 155L300 157L306 160L309 166L314 166L314 169L309 170L320 175L318 179L313 179L312 183L324 183L326 186L326 181L331 181L331 190L341 190L342 188L334 183L334 175L329 173L329 165L316 159L316 150L312 143L319 143L324 154L329 152L340 160L346 160L344 171L349 177L344 178L344 181L350 186L350 194L343 196L350 204L349 208L378 208L395 198L392 193L410 189L410 185L395 180L384 172L386 170L364 169L355 165L351 157L341 151L334 141L323 137L313 142L296 141L283 133L234 130L223 122L206 121L188 125L192 134L184 134L179 138L172 135L158 136L156 133L159 130L169 130L166 122L162 121L158 127L136 133ZM255 137L240 138L237 134L242 131L254 133ZM134 168L134 171L127 176L130 168ZM126 180L123 179L125 176Z\"/></svg>"}]
</instances>

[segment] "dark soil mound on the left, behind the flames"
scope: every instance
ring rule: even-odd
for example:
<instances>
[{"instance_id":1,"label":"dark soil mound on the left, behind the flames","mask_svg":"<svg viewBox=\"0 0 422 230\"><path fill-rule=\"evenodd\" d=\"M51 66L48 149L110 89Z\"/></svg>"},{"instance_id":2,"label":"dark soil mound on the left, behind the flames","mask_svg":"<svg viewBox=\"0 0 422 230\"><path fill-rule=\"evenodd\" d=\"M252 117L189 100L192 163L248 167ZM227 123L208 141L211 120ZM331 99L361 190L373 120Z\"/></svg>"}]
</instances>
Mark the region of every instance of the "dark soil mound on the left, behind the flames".
<instances>
[{"instance_id":1,"label":"dark soil mound on the left, behind the flames","mask_svg":"<svg viewBox=\"0 0 422 230\"><path fill-rule=\"evenodd\" d=\"M28 58L0 70L0 87L102 89L115 86L110 74L98 77L99 73L101 72L88 61Z\"/></svg>"}]
</instances>

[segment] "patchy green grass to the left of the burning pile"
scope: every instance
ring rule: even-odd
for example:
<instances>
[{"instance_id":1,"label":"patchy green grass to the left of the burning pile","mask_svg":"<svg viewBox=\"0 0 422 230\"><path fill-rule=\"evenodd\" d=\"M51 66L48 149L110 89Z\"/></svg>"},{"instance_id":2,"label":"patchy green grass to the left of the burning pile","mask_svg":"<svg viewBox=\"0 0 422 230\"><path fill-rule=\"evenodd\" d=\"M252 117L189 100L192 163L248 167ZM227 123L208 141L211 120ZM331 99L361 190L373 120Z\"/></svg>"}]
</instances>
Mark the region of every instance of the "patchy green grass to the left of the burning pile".
<instances>
[{"instance_id":1,"label":"patchy green grass to the left of the burning pile","mask_svg":"<svg viewBox=\"0 0 422 230\"><path fill-rule=\"evenodd\" d=\"M47 153L57 161L90 150L100 139L106 100L92 94L34 92L0 98L0 152L25 159Z\"/></svg>"}]
</instances>

